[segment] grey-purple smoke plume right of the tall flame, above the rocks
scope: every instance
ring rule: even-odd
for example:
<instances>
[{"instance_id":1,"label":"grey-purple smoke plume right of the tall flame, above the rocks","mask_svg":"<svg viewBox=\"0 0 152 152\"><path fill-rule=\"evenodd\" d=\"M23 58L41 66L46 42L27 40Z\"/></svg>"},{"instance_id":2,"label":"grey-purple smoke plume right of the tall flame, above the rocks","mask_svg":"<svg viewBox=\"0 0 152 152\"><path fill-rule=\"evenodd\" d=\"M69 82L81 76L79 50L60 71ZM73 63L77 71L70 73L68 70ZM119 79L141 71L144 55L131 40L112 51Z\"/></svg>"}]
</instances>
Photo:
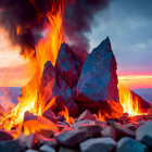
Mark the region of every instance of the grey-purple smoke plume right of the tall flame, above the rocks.
<instances>
[{"instance_id":1,"label":"grey-purple smoke plume right of the tall flame, above the rocks","mask_svg":"<svg viewBox=\"0 0 152 152\"><path fill-rule=\"evenodd\" d=\"M64 33L71 48L78 54L87 54L89 39L85 33L91 31L94 15L109 7L112 0L71 0L64 17ZM100 20L100 18L99 18Z\"/></svg>"}]
</instances>

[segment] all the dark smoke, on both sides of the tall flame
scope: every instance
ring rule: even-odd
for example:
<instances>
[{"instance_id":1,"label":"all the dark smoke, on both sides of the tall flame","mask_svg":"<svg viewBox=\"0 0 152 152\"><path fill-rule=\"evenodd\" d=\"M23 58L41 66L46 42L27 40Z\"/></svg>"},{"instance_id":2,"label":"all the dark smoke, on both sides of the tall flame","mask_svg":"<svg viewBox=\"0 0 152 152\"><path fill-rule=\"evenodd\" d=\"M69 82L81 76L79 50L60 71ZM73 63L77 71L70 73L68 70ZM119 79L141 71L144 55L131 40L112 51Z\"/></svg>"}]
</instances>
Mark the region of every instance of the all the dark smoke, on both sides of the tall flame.
<instances>
[{"instance_id":1,"label":"all the dark smoke, on both sides of the tall flame","mask_svg":"<svg viewBox=\"0 0 152 152\"><path fill-rule=\"evenodd\" d=\"M13 45L33 48L42 38L41 30L48 22L47 13L56 13L62 0L0 0L0 27L7 29ZM87 54L89 39L84 35L91 30L97 12L111 0L68 0L64 15L64 33L69 46L81 56ZM20 31L20 33L18 33Z\"/></svg>"}]
</instances>

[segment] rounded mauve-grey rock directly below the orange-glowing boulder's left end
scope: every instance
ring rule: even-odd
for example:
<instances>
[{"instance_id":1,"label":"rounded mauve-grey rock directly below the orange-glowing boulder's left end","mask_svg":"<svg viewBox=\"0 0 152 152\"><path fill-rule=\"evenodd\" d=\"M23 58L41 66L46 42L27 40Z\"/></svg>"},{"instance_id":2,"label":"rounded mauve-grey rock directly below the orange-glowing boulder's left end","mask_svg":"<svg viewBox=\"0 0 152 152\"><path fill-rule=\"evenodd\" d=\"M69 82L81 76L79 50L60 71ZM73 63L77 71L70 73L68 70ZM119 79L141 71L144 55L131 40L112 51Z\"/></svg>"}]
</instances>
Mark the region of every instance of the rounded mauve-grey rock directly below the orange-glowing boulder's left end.
<instances>
[{"instance_id":1,"label":"rounded mauve-grey rock directly below the orange-glowing boulder's left end","mask_svg":"<svg viewBox=\"0 0 152 152\"><path fill-rule=\"evenodd\" d=\"M21 134L20 137L17 138L17 141L20 142L20 144L28 149L31 149L35 147L36 144L35 140L36 140L36 134L30 134L28 136Z\"/></svg>"}]
</instances>

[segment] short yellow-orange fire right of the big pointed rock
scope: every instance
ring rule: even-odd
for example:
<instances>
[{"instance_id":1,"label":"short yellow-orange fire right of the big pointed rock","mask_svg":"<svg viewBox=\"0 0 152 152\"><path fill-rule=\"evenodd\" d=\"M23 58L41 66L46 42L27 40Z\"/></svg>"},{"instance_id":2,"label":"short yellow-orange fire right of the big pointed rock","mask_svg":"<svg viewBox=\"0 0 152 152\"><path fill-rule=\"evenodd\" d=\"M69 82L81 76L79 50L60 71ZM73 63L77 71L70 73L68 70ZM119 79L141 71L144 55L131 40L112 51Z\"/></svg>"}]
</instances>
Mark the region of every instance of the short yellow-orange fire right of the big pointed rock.
<instances>
[{"instance_id":1,"label":"short yellow-orange fire right of the big pointed rock","mask_svg":"<svg viewBox=\"0 0 152 152\"><path fill-rule=\"evenodd\" d=\"M139 112L138 99L132 98L131 91L125 85L122 84L118 85L118 90L119 102L124 109L124 113L128 113L129 116L141 115L141 113Z\"/></svg>"}]
</instances>

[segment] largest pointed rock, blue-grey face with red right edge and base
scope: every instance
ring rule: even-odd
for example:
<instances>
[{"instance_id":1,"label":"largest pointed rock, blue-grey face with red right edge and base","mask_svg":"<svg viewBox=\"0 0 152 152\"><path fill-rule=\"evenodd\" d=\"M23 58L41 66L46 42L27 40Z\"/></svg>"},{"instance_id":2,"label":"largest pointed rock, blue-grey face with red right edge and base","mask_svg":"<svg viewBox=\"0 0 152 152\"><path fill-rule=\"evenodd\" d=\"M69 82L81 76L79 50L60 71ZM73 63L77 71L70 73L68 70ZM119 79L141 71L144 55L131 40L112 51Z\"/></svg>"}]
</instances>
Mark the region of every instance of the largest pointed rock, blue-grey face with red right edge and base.
<instances>
[{"instance_id":1,"label":"largest pointed rock, blue-grey face with red right edge and base","mask_svg":"<svg viewBox=\"0 0 152 152\"><path fill-rule=\"evenodd\" d=\"M80 110L88 109L97 112L102 105L104 110L110 109L109 104L104 105L105 101L118 103L116 68L110 39L106 38L92 50L84 62L76 94ZM111 111L109 110L109 112ZM119 112L123 113L121 104L117 113Z\"/></svg>"}]
</instances>

